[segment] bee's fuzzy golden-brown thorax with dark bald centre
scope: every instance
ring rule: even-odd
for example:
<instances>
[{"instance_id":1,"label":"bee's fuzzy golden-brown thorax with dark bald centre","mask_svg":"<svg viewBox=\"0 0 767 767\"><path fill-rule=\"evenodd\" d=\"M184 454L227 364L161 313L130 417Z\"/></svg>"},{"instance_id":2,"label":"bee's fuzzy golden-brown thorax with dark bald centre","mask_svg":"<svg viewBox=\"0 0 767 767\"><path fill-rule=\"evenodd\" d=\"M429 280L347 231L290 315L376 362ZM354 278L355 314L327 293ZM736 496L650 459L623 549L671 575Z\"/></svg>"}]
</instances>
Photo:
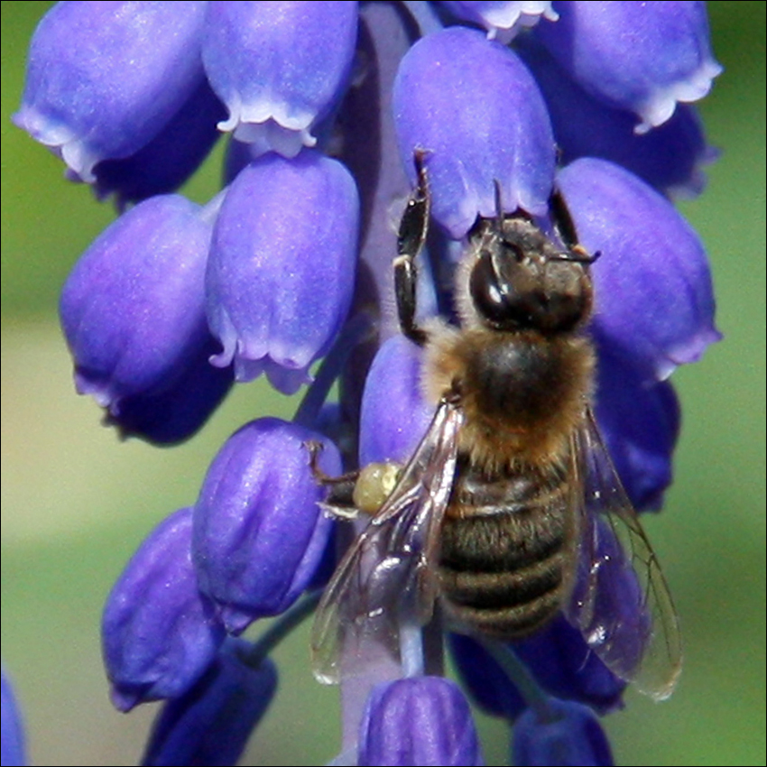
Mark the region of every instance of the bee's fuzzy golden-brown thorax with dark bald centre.
<instances>
[{"instance_id":1,"label":"bee's fuzzy golden-brown thorax with dark bald centre","mask_svg":"<svg viewBox=\"0 0 767 767\"><path fill-rule=\"evenodd\" d=\"M564 459L586 416L595 355L575 334L430 327L423 385L431 402L461 398L460 452L490 475Z\"/></svg>"}]
</instances>

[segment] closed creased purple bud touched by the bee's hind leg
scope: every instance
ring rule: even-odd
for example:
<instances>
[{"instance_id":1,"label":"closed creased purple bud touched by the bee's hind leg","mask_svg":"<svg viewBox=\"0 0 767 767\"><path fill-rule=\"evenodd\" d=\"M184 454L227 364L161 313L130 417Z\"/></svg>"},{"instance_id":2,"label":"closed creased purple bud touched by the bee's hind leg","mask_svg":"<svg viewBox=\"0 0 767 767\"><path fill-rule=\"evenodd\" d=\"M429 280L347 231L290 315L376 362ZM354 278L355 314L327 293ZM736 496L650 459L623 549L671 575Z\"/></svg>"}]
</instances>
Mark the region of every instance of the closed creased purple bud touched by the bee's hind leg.
<instances>
[{"instance_id":1,"label":"closed creased purple bud touched by the bee's hind leg","mask_svg":"<svg viewBox=\"0 0 767 767\"><path fill-rule=\"evenodd\" d=\"M332 521L319 508L325 490L310 467L308 443L324 446L319 467L341 471L337 448L293 423L263 418L218 451L194 511L200 588L231 633L284 612L308 586Z\"/></svg>"}]
</instances>

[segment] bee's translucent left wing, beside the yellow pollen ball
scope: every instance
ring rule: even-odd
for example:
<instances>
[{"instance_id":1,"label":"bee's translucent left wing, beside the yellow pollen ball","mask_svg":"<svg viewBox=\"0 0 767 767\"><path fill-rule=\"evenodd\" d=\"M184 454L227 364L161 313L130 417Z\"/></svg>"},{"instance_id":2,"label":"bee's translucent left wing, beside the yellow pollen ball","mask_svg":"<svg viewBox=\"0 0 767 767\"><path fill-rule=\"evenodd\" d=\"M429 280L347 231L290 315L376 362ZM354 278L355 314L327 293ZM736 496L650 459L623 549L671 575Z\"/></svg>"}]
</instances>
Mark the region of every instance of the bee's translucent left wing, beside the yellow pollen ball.
<instances>
[{"instance_id":1,"label":"bee's translucent left wing, beside the yellow pollen ball","mask_svg":"<svg viewBox=\"0 0 767 767\"><path fill-rule=\"evenodd\" d=\"M462 423L457 404L440 402L392 494L339 563L312 629L312 661L320 681L353 675L347 666L355 656L362 662L372 648L383 647L398 659L401 628L429 621L438 587L439 529Z\"/></svg>"}]
</instances>

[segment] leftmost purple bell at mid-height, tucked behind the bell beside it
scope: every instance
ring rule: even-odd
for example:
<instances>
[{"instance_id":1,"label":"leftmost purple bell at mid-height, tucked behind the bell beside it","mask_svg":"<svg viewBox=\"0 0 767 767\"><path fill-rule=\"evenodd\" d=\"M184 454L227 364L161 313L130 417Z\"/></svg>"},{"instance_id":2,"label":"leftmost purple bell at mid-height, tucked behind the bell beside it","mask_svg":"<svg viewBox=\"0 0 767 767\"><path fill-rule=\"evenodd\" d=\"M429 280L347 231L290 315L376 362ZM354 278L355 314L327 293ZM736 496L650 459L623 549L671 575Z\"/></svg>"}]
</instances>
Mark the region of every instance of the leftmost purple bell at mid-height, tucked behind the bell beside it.
<instances>
[{"instance_id":1,"label":"leftmost purple bell at mid-height, tucked behind the bell beside it","mask_svg":"<svg viewBox=\"0 0 767 767\"><path fill-rule=\"evenodd\" d=\"M205 314L210 232L202 208L187 199L145 200L97 238L64 285L60 319L78 392L93 395L117 422L127 402L128 431L132 420L136 425L135 398L178 393L207 365L200 355L212 342ZM222 373L213 381L218 400L228 386Z\"/></svg>"}]
</instances>

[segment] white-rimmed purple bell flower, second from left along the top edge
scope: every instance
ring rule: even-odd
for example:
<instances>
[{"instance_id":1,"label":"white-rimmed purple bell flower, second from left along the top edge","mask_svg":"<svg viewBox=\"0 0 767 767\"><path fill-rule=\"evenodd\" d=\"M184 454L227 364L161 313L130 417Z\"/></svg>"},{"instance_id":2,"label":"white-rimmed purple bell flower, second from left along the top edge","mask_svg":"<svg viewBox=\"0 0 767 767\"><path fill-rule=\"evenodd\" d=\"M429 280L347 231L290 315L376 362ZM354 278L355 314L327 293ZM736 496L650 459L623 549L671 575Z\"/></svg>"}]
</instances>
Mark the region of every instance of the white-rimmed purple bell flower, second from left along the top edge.
<instances>
[{"instance_id":1,"label":"white-rimmed purple bell flower, second from left along the top edge","mask_svg":"<svg viewBox=\"0 0 767 767\"><path fill-rule=\"evenodd\" d=\"M210 3L202 55L229 109L221 130L285 157L314 146L347 84L356 26L356 2Z\"/></svg>"}]
</instances>

